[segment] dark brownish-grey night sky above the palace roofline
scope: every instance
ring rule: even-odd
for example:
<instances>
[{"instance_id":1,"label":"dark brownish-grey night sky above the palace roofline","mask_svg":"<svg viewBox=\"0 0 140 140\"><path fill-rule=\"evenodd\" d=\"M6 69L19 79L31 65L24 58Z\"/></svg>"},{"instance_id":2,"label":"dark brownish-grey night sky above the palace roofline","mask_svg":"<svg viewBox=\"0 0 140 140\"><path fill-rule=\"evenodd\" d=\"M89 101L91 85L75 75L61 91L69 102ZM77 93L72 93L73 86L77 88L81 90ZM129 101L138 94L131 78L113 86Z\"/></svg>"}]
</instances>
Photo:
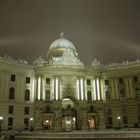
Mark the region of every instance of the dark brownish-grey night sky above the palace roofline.
<instances>
[{"instance_id":1,"label":"dark brownish-grey night sky above the palace roofline","mask_svg":"<svg viewBox=\"0 0 140 140\"><path fill-rule=\"evenodd\" d=\"M102 64L140 58L140 0L0 0L0 55L29 62L60 32L80 59Z\"/></svg>"}]
</instances>

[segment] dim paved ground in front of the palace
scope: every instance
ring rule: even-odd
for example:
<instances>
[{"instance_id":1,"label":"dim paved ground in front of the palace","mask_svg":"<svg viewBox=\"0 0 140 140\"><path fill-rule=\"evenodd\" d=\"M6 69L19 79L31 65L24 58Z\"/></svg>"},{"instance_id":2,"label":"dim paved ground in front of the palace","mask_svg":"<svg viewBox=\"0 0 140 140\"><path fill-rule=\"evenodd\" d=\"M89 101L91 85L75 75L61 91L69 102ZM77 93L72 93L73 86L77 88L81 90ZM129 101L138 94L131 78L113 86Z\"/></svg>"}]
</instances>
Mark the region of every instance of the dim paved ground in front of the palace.
<instances>
[{"instance_id":1,"label":"dim paved ground in front of the palace","mask_svg":"<svg viewBox=\"0 0 140 140\"><path fill-rule=\"evenodd\" d=\"M94 140L140 140L140 129L132 130L100 130L100 131L71 131L71 132L58 132L58 131L8 131L4 132L7 139L11 140L14 136L15 140L80 140L80 139L94 139Z\"/></svg>"}]
</instances>

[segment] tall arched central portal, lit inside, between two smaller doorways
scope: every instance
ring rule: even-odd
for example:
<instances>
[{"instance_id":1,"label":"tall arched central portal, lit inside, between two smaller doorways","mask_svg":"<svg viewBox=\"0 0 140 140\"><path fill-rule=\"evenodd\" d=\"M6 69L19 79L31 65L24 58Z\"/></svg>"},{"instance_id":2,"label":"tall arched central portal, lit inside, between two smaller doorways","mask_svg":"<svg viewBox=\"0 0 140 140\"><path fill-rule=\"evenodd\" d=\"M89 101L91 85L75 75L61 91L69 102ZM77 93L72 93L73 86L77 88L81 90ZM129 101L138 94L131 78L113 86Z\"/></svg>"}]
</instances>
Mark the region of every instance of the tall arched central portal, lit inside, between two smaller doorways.
<instances>
[{"instance_id":1,"label":"tall arched central portal, lit inside, between two smaller doorways","mask_svg":"<svg viewBox=\"0 0 140 140\"><path fill-rule=\"evenodd\" d=\"M62 119L61 128L64 131L71 131L76 129L77 110L75 102L70 98L62 100Z\"/></svg>"}]
</instances>

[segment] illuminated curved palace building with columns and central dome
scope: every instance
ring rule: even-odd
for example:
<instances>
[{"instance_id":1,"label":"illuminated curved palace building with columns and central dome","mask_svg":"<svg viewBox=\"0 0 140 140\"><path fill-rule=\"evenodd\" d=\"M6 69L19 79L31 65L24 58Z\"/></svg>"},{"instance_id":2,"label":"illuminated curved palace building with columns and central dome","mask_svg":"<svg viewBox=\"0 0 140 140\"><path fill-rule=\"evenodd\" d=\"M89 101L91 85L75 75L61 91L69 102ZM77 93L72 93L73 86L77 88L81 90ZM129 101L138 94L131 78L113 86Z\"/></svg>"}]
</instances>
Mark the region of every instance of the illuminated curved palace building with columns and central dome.
<instances>
[{"instance_id":1,"label":"illuminated curved palace building with columns and central dome","mask_svg":"<svg viewBox=\"0 0 140 140\"><path fill-rule=\"evenodd\" d=\"M0 116L2 130L140 127L140 61L85 66L61 33L46 60L0 57Z\"/></svg>"}]
</instances>

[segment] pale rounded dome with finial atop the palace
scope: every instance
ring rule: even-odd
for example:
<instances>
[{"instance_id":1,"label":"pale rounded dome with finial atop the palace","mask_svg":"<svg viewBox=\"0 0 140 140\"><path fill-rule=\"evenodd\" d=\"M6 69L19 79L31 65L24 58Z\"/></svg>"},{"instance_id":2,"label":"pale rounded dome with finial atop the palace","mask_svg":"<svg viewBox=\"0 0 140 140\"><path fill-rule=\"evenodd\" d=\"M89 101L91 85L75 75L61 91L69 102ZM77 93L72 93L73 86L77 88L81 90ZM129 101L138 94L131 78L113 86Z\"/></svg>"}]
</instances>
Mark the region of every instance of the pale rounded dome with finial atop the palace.
<instances>
[{"instance_id":1,"label":"pale rounded dome with finial atop the palace","mask_svg":"<svg viewBox=\"0 0 140 140\"><path fill-rule=\"evenodd\" d=\"M73 43L65 39L64 34L61 33L60 38L53 41L50 45L47 58L49 61L51 61L54 58L61 57L66 50L71 50L74 56L77 56L77 52Z\"/></svg>"}]
</instances>

